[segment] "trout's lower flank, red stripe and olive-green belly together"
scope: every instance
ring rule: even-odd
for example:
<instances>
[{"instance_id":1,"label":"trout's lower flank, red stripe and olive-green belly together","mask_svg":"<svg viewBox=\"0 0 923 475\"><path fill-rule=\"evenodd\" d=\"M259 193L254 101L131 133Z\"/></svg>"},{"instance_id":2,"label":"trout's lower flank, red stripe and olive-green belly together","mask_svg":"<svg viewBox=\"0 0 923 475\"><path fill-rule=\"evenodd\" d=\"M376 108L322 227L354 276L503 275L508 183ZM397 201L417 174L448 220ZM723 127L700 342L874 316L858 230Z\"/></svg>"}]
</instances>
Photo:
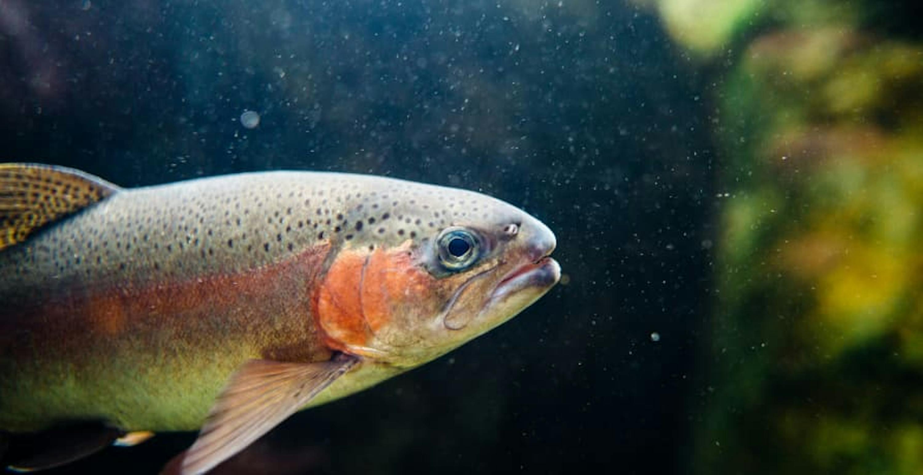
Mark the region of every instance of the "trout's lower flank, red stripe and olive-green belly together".
<instances>
[{"instance_id":1,"label":"trout's lower flank, red stripe and olive-green belly together","mask_svg":"<svg viewBox=\"0 0 923 475\"><path fill-rule=\"evenodd\" d=\"M87 419L196 429L243 362L328 360L307 264L0 295L0 430Z\"/></svg>"}]
</instances>

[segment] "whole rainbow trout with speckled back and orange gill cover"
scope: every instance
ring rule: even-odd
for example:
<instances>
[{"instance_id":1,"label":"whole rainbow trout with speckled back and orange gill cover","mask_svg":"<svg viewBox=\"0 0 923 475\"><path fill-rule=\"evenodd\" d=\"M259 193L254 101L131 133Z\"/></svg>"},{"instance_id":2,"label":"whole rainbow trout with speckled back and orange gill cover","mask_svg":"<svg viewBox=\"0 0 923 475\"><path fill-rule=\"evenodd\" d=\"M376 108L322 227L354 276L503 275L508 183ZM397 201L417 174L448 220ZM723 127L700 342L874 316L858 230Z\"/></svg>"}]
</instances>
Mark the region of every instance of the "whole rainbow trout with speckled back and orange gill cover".
<instances>
[{"instance_id":1,"label":"whole rainbow trout with speckled back and orange gill cover","mask_svg":"<svg viewBox=\"0 0 923 475\"><path fill-rule=\"evenodd\" d=\"M71 427L83 441L4 463L198 430L180 472L207 472L294 412L519 314L560 279L556 245L494 197L390 177L122 188L0 164L0 441Z\"/></svg>"}]
</instances>

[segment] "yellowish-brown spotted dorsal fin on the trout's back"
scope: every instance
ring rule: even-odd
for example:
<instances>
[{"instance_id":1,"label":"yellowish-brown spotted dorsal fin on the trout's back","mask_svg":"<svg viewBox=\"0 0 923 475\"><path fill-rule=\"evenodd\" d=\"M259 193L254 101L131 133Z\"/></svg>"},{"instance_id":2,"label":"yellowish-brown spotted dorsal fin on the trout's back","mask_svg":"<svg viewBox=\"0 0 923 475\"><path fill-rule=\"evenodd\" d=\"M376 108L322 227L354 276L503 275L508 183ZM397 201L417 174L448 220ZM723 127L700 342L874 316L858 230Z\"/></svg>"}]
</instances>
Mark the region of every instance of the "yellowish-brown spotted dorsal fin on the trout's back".
<instances>
[{"instance_id":1,"label":"yellowish-brown spotted dorsal fin on the trout's back","mask_svg":"<svg viewBox=\"0 0 923 475\"><path fill-rule=\"evenodd\" d=\"M22 243L45 224L118 190L101 178L70 168L0 163L0 250Z\"/></svg>"}]
</instances>

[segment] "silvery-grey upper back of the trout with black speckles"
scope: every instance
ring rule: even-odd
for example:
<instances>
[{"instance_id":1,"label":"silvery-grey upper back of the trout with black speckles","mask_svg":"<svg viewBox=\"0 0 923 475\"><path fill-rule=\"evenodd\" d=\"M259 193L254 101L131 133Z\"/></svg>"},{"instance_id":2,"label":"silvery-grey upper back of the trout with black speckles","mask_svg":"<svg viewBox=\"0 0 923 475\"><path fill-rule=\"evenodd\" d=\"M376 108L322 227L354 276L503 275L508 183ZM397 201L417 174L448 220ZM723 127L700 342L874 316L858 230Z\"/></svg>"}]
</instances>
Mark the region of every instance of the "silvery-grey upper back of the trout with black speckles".
<instances>
[{"instance_id":1,"label":"silvery-grey upper back of the trout with black speckles","mask_svg":"<svg viewBox=\"0 0 923 475\"><path fill-rule=\"evenodd\" d=\"M127 189L0 253L7 276L0 295L54 282L233 272L324 240L337 247L422 243L446 226L518 211L497 203L463 190L330 172L242 173Z\"/></svg>"}]
</instances>

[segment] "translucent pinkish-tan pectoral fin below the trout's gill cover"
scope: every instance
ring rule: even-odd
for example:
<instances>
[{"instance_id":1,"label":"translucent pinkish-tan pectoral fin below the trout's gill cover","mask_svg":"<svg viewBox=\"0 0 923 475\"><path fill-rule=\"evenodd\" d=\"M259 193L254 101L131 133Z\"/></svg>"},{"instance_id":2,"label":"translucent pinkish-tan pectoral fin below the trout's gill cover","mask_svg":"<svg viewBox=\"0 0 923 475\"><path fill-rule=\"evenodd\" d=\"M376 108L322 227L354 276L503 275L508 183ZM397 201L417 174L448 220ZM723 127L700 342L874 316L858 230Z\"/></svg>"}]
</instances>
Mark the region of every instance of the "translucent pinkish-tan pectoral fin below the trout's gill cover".
<instances>
[{"instance_id":1,"label":"translucent pinkish-tan pectoral fin below the trout's gill cover","mask_svg":"<svg viewBox=\"0 0 923 475\"><path fill-rule=\"evenodd\" d=\"M345 354L330 362L247 362L231 376L196 443L186 451L183 475L204 473L233 457L357 362L358 358Z\"/></svg>"}]
</instances>

